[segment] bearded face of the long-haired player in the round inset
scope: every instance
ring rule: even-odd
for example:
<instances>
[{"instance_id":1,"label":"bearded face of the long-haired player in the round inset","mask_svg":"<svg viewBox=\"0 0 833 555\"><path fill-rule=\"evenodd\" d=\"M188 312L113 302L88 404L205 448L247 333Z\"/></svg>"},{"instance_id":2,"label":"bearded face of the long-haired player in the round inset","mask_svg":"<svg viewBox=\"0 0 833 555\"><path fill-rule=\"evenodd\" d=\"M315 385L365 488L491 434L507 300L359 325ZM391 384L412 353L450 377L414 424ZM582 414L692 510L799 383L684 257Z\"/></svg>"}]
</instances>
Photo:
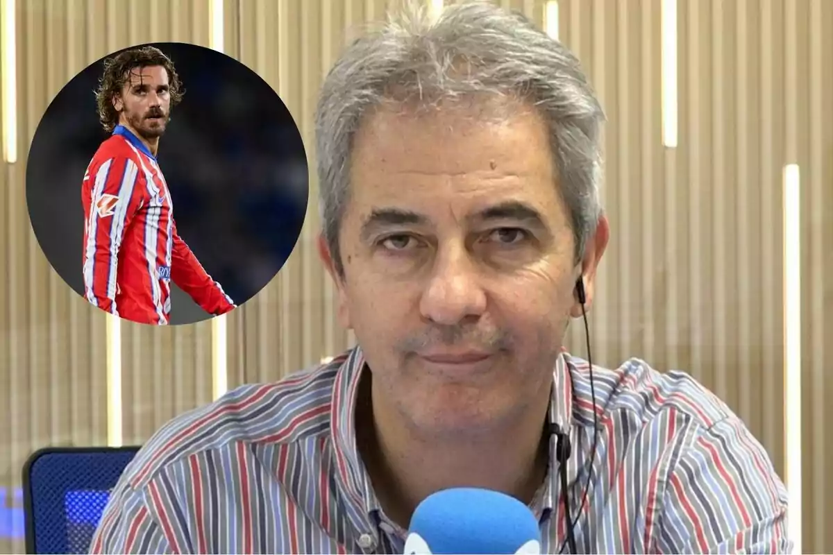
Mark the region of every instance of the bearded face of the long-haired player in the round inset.
<instances>
[{"instance_id":1,"label":"bearded face of the long-haired player in the round inset","mask_svg":"<svg viewBox=\"0 0 833 555\"><path fill-rule=\"evenodd\" d=\"M145 139L162 136L171 108L167 70L162 66L134 68L114 103L121 112L120 123L127 122Z\"/></svg>"}]
</instances>

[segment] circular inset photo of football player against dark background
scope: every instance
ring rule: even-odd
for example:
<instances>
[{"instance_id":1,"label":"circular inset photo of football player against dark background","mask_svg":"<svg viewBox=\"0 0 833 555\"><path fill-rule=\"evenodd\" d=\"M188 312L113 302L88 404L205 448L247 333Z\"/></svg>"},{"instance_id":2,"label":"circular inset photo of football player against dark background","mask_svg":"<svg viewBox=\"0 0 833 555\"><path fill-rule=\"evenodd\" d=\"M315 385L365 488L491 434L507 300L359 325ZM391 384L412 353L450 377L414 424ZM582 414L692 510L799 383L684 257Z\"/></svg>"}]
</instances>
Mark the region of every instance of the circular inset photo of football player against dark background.
<instances>
[{"instance_id":1,"label":"circular inset photo of football player against dark background","mask_svg":"<svg viewBox=\"0 0 833 555\"><path fill-rule=\"evenodd\" d=\"M37 241L92 305L192 324L257 294L301 234L301 133L232 57L179 42L93 63L47 108L29 151Z\"/></svg>"}]
</instances>

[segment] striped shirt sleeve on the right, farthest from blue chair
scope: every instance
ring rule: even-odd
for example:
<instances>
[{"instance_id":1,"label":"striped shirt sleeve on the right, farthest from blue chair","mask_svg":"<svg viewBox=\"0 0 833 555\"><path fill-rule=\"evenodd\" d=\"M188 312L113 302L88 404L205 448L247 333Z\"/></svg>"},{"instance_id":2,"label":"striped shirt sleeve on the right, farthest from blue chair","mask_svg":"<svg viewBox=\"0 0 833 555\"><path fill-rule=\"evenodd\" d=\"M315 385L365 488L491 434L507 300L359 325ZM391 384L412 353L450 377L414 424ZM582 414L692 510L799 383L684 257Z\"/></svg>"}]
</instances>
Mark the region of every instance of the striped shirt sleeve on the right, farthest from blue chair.
<instances>
[{"instance_id":1,"label":"striped shirt sleeve on the right, farthest from blue chair","mask_svg":"<svg viewBox=\"0 0 833 555\"><path fill-rule=\"evenodd\" d=\"M787 493L737 418L694 434L666 483L658 553L791 553Z\"/></svg>"}]
</instances>

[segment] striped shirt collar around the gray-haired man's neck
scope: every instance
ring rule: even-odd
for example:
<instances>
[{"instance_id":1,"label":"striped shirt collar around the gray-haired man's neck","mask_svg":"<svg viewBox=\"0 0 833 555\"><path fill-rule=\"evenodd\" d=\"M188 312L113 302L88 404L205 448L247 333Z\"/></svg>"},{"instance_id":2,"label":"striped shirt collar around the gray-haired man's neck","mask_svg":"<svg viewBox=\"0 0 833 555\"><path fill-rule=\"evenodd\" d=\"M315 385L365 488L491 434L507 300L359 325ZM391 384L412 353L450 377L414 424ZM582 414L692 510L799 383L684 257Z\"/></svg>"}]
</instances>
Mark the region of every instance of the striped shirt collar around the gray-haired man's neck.
<instances>
[{"instance_id":1,"label":"striped shirt collar around the gray-haired man's neck","mask_svg":"<svg viewBox=\"0 0 833 555\"><path fill-rule=\"evenodd\" d=\"M341 362L333 384L332 405L330 409L330 426L334 439L336 479L342 493L347 496L347 516L359 528L366 528L374 522L380 509L379 501L373 492L370 477L367 474L356 444L356 407L359 382L366 370L366 360L362 349L355 347L337 359ZM580 435L588 436L586 428L593 426L591 409L577 407L574 411L574 379L576 364L566 351L562 351L553 369L553 387L550 401L550 421L565 433L570 434L573 452L579 445ZM551 438L550 453L555 452L556 439ZM585 442L581 441L583 445ZM572 458L572 457L571 457ZM568 483L576 480L576 464L568 464ZM543 519L556 507L556 495L560 491L558 463L550 457L547 477L532 503L536 515Z\"/></svg>"}]
</instances>

